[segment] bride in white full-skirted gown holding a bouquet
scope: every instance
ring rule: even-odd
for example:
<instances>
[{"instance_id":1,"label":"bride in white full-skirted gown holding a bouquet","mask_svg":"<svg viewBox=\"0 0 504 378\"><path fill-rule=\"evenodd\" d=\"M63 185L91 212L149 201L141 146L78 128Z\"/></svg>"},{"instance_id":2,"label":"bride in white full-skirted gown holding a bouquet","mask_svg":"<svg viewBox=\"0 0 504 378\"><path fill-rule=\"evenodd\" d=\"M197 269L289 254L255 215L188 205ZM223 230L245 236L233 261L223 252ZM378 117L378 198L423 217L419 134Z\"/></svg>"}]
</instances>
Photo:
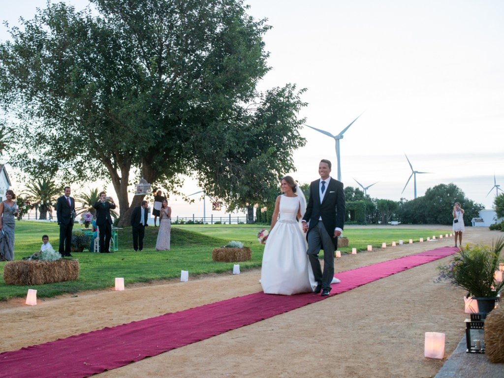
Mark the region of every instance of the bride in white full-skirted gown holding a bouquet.
<instances>
[{"instance_id":1,"label":"bride in white full-skirted gown holding a bouquet","mask_svg":"<svg viewBox=\"0 0 504 378\"><path fill-rule=\"evenodd\" d=\"M264 248L261 285L266 294L312 292L316 283L306 255L306 241L296 221L306 210L306 199L291 176L282 178L281 187L285 194L278 196L275 202Z\"/></svg>"}]
</instances>

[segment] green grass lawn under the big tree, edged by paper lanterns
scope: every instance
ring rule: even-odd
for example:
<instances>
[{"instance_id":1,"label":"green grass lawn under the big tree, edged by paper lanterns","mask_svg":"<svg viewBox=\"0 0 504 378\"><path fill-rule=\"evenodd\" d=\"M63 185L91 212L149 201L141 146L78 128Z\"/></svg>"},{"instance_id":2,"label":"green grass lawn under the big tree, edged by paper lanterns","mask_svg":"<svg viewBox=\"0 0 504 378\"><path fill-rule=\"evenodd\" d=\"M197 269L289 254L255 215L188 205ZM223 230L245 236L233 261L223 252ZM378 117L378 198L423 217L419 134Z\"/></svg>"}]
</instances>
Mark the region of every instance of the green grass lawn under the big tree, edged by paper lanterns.
<instances>
[{"instance_id":1,"label":"green grass lawn under the big tree, edged by paper lanterns","mask_svg":"<svg viewBox=\"0 0 504 378\"><path fill-rule=\"evenodd\" d=\"M373 229L359 228L345 230L344 236L350 240L348 248L340 248L349 253L351 248L365 250L368 244L381 247L382 242L391 244L399 239L418 241L420 237L438 235L439 231L414 229ZM76 228L76 227L74 227ZM136 282L152 282L162 279L177 279L181 270L191 275L223 273L233 269L234 263L212 261L212 249L221 247L230 240L239 240L253 250L251 261L240 262L240 270L261 266L264 245L257 241L259 225L175 225L171 232L171 250L156 251L158 228L146 228L144 250L133 250L131 228L119 230L119 250L114 254L73 253L80 263L78 281L35 285L39 298L53 297L62 293L77 293L84 290L111 288L115 277L124 277L125 285ZM15 260L21 260L40 249L42 235L49 236L49 242L57 250L59 228L55 223L21 221L16 222ZM322 254L321 254L322 257ZM26 296L27 286L7 285L3 279L5 262L0 263L0 300Z\"/></svg>"}]
</instances>

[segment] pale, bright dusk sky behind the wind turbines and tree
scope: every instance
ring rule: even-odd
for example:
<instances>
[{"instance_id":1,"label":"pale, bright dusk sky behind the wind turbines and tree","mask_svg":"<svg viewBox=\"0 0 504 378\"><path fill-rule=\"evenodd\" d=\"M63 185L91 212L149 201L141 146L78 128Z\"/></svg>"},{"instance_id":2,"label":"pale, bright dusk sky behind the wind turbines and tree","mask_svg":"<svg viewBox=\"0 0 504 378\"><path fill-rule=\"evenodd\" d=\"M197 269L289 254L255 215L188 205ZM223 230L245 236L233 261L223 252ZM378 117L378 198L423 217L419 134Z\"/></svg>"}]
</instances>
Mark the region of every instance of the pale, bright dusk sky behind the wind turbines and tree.
<instances>
[{"instance_id":1,"label":"pale, bright dusk sky behind the wind turbines and tree","mask_svg":"<svg viewBox=\"0 0 504 378\"><path fill-rule=\"evenodd\" d=\"M68 0L77 9L84 0ZM3 20L31 19L44 0L9 2ZM287 83L306 88L306 124L339 134L342 181L364 186L373 198L414 198L405 154L418 171L417 194L453 182L468 198L492 207L494 185L504 188L504 2L384 0L247 0L248 13L273 26L265 36L272 70L266 90ZM0 39L9 38L5 26ZM301 183L318 178L323 158L333 162L335 142L309 128L295 151ZM96 186L96 185L94 185ZM187 178L182 191L200 191ZM110 192L112 188L110 187ZM203 204L170 197L174 214L203 216ZM210 215L207 202L207 216ZM224 215L223 212L216 213Z\"/></svg>"}]
</instances>

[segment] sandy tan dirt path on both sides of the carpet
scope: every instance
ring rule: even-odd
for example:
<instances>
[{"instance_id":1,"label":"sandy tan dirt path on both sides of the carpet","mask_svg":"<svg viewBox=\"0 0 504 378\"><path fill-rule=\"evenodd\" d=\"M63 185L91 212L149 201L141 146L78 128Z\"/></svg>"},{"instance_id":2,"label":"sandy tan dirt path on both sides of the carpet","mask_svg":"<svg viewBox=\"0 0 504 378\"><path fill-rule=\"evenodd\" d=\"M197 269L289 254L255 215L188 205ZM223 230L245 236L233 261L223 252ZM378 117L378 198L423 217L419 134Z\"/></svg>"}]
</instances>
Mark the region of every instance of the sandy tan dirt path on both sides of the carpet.
<instances>
[{"instance_id":1,"label":"sandy tan dirt path on both sides of the carpet","mask_svg":"<svg viewBox=\"0 0 504 378\"><path fill-rule=\"evenodd\" d=\"M414 228L419 228L415 226ZM439 233L451 232L449 227ZM500 233L467 227L465 242L490 243ZM500 234L502 235L502 234ZM425 235L427 236L432 235ZM336 271L371 265L453 239L406 244L344 256ZM435 284L436 266L410 269L321 302L208 340L102 373L110 377L432 377L444 361L423 357L425 332L446 333L446 357L464 332L462 290ZM135 285L125 291L79 293L0 303L0 351L152 318L261 291L260 270L211 275L189 282Z\"/></svg>"}]
</instances>

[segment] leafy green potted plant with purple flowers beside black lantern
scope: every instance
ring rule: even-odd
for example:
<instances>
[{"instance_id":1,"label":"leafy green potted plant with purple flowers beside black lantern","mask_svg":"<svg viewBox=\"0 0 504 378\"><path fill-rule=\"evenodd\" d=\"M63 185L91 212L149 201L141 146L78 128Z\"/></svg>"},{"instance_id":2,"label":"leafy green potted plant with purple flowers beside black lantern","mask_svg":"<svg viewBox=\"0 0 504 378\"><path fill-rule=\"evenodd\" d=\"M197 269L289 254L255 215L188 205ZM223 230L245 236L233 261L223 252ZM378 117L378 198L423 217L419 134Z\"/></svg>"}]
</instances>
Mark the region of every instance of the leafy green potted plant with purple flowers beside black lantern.
<instances>
[{"instance_id":1,"label":"leafy green potted plant with purple flowers beside black lantern","mask_svg":"<svg viewBox=\"0 0 504 378\"><path fill-rule=\"evenodd\" d=\"M460 250L449 265L439 266L437 281L448 280L454 286L467 290L467 297L474 297L478 310L483 314L495 307L497 294L504 288L504 281L495 282L495 271L499 268L500 252L504 237L499 237L491 247L467 245Z\"/></svg>"}]
</instances>

